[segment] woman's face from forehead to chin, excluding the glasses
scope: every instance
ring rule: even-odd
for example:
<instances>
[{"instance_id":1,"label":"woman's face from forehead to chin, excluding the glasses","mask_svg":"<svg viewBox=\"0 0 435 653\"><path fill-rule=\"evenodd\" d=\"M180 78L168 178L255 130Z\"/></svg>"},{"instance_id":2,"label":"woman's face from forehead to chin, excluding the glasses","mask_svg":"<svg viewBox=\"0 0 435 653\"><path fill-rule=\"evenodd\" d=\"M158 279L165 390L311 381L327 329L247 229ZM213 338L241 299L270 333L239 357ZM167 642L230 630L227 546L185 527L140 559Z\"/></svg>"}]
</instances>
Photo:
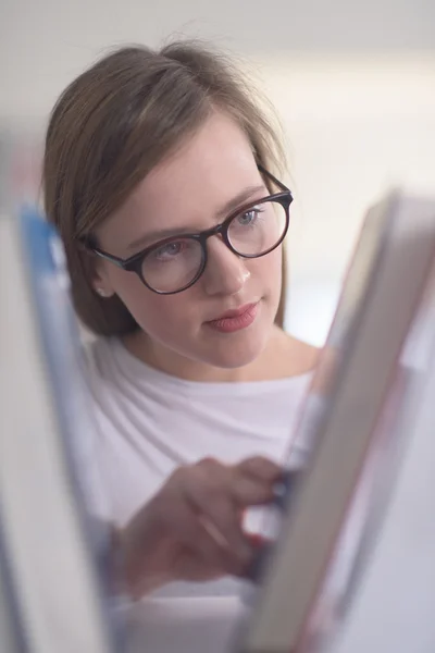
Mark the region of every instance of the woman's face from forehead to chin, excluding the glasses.
<instances>
[{"instance_id":1,"label":"woman's face from forehead to chin, excluding the glasses","mask_svg":"<svg viewBox=\"0 0 435 653\"><path fill-rule=\"evenodd\" d=\"M128 258L166 235L208 230L268 195L247 137L216 112L99 229L99 245ZM281 294L282 248L244 259L220 235L207 245L202 276L182 293L158 295L137 274L109 261L99 263L95 285L119 295L154 347L214 367L241 367L257 358L270 336ZM243 315L221 319L228 311Z\"/></svg>"}]
</instances>

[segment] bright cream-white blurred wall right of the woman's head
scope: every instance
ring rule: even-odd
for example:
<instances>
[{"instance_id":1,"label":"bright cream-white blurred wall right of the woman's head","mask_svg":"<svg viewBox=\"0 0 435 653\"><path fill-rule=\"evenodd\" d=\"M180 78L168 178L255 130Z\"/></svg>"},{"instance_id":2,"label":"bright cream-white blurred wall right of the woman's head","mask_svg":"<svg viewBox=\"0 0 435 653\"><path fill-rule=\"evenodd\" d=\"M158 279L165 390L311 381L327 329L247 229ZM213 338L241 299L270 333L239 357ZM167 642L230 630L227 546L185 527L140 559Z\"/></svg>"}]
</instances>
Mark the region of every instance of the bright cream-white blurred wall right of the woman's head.
<instances>
[{"instance_id":1,"label":"bright cream-white blurred wall right of the woman's head","mask_svg":"<svg viewBox=\"0 0 435 653\"><path fill-rule=\"evenodd\" d=\"M263 59L295 193L287 326L322 344L368 207L435 196L435 52Z\"/></svg>"}]
</instances>

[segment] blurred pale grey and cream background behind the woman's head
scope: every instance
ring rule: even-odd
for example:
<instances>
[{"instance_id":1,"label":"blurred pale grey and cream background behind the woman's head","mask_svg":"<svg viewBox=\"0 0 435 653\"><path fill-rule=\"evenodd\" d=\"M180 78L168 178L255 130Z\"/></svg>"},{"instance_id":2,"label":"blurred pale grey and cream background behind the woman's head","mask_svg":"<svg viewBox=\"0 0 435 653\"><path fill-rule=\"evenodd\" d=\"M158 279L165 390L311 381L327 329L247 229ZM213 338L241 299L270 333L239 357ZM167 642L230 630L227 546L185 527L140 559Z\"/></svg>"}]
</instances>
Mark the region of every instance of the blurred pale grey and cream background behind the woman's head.
<instances>
[{"instance_id":1,"label":"blurred pale grey and cream background behind the woman's head","mask_svg":"<svg viewBox=\"0 0 435 653\"><path fill-rule=\"evenodd\" d=\"M184 35L233 52L276 108L296 196L287 328L322 344L366 208L393 185L435 193L435 3L2 0L0 136L40 138L105 49Z\"/></svg>"}]
</instances>

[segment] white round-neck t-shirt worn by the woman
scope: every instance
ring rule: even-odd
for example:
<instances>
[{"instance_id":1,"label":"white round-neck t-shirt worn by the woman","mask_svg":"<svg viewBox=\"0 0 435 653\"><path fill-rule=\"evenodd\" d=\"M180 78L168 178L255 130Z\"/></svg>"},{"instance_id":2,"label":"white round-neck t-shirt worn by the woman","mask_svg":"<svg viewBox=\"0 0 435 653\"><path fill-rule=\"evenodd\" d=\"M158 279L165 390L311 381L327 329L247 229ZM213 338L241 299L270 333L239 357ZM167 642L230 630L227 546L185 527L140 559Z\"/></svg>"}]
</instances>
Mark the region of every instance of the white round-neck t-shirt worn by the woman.
<instances>
[{"instance_id":1,"label":"white round-neck t-shirt worn by the woman","mask_svg":"<svg viewBox=\"0 0 435 653\"><path fill-rule=\"evenodd\" d=\"M87 381L97 421L91 464L107 494L94 509L123 526L174 469L208 456L224 463L253 455L286 460L310 379L186 381L144 364L117 338L90 343ZM303 454L300 444L294 447L295 464ZM215 582L197 591L211 586L212 593L228 591Z\"/></svg>"}]
</instances>

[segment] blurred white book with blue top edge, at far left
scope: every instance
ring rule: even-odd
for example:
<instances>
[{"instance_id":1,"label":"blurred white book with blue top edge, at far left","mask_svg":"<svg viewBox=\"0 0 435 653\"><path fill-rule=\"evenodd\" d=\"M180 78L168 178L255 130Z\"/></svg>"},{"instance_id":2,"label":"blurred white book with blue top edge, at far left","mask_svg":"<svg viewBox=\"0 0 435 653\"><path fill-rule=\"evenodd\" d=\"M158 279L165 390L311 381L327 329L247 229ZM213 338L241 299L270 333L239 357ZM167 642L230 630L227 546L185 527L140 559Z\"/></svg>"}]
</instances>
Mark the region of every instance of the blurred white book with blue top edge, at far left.
<instances>
[{"instance_id":1,"label":"blurred white book with blue top edge, at far left","mask_svg":"<svg viewBox=\"0 0 435 653\"><path fill-rule=\"evenodd\" d=\"M0 618L12 633L13 605L25 653L110 653L109 531L79 476L94 423L62 255L36 212L0 217Z\"/></svg>"}]
</instances>

